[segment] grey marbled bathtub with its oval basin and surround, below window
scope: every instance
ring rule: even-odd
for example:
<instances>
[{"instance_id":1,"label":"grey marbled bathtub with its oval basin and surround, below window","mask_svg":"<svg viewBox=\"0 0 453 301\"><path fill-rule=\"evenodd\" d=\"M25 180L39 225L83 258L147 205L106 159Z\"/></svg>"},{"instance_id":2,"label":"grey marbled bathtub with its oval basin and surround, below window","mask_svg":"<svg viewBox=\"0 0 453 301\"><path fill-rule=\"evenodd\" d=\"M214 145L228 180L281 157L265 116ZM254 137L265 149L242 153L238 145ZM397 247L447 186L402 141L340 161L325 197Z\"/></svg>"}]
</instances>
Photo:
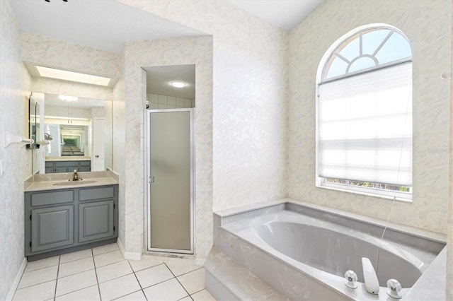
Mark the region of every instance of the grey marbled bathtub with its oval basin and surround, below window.
<instances>
[{"instance_id":1,"label":"grey marbled bathtub with its oval basin and surround, below window","mask_svg":"<svg viewBox=\"0 0 453 301\"><path fill-rule=\"evenodd\" d=\"M214 244L291 300L391 300L386 281L398 280L405 295L445 247L393 229L381 240L379 225L294 203L229 218L217 220ZM377 270L379 297L365 290L362 257ZM344 284L348 270L357 289Z\"/></svg>"}]
</instances>

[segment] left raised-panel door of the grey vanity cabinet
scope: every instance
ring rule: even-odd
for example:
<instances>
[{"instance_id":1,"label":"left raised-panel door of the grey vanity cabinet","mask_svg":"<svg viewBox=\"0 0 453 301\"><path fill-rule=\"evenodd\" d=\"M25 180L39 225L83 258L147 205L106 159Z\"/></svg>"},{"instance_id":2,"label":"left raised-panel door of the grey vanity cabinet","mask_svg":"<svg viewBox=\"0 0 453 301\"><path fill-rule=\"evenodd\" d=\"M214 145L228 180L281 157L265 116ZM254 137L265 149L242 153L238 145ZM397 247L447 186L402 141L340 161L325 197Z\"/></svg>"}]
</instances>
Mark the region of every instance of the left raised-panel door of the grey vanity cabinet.
<instances>
[{"instance_id":1,"label":"left raised-panel door of the grey vanity cabinet","mask_svg":"<svg viewBox=\"0 0 453 301\"><path fill-rule=\"evenodd\" d=\"M74 243L73 205L33 209L31 217L31 252Z\"/></svg>"}]
</instances>

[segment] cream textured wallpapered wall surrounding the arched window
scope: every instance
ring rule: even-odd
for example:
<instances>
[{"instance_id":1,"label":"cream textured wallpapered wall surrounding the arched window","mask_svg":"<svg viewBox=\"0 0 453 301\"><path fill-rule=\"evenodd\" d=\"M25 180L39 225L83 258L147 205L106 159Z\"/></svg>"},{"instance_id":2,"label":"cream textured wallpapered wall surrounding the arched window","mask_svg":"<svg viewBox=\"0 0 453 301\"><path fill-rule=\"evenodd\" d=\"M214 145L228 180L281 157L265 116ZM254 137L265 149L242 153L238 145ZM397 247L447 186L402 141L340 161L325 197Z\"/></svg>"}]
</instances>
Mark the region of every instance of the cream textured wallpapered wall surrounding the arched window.
<instances>
[{"instance_id":1,"label":"cream textured wallpapered wall surrounding the arched window","mask_svg":"<svg viewBox=\"0 0 453 301\"><path fill-rule=\"evenodd\" d=\"M447 233L452 1L326 1L289 33L289 196ZM315 83L324 52L360 25L387 23L413 47L413 201L315 187Z\"/></svg>"}]
</instances>

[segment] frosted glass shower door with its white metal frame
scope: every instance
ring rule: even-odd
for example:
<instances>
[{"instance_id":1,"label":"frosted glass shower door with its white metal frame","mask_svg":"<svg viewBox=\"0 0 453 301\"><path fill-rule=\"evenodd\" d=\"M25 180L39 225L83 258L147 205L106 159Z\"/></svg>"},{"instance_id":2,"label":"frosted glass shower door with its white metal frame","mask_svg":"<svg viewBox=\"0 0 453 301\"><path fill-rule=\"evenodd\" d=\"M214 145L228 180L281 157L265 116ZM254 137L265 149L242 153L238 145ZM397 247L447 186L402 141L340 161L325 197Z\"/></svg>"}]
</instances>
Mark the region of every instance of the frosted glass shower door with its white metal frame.
<instances>
[{"instance_id":1,"label":"frosted glass shower door with its white metal frame","mask_svg":"<svg viewBox=\"0 0 453 301\"><path fill-rule=\"evenodd\" d=\"M147 111L147 247L193 254L193 109Z\"/></svg>"}]
</instances>

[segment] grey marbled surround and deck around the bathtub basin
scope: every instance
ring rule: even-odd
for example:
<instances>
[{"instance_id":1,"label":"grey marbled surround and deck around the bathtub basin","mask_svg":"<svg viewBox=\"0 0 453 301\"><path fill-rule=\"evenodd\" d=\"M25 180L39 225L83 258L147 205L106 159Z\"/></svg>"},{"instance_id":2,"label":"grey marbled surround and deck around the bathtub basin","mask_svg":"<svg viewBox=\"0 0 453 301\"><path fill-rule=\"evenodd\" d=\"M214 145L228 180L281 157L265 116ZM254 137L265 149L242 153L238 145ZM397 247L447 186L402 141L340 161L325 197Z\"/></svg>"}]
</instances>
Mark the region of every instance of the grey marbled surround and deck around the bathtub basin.
<instances>
[{"instance_id":1,"label":"grey marbled surround and deck around the bathtub basin","mask_svg":"<svg viewBox=\"0 0 453 301\"><path fill-rule=\"evenodd\" d=\"M280 209L280 213L289 213L297 216L297 212L304 213L303 211L305 211L311 216L311 219L321 220L321 223L342 220L337 213L316 211L313 208L301 206L297 204L296 200L288 198L273 201L270 206L264 208L257 204L256 210L244 207L242 209L245 212L241 211L241 208L236 208L237 210L230 209L229 212L220 211L214 213L214 246L227 256L230 256L231 259L239 261L240 264L248 268L256 276L270 283L292 300L377 300L377 296L366 292L363 283L357 283L359 287L356 290L347 288L344 285L343 277L326 273L277 252L269 244L266 244L262 237L258 236L258 230L251 230L258 224L262 225L264 223L267 226L269 225L268 223L272 223L272 218L263 219L266 216L274 215L277 216L277 220L284 220L285 216L279 216L278 210L282 206L283 209ZM347 222L339 223L340 225L332 224L330 228L344 228L344 232L364 230L368 232L367 235L374 237L372 239L377 240L376 237L380 238L377 229L382 229L382 227L379 225L364 223L358 218L343 218L343 220L347 220ZM253 225L253 223L258 224ZM358 229L353 230L354 228ZM417 259L421 259L424 264L421 265L420 271L426 270L428 274L425 275L423 273L412 288L404 288L403 295L411 293L411 296L413 296L415 294L413 293L414 291L417 292L423 290L423 288L430 287L430 290L435 291L430 300L444 299L445 273L442 273L442 269L437 269L436 271L434 268L430 268L428 264L432 261L433 266L442 266L442 264L445 266L445 248L443 252L440 252L442 247L445 246L445 240L436 240L429 236L428 238L416 237L416 235L408 235L406 233L420 232L417 229L409 231L410 229L405 228L404 230L400 232L395 229L387 229L384 243L396 244L397 248L408 251L415 255ZM380 232L380 235L382 235L382 232ZM427 244L430 247L423 249ZM439 252L440 254L437 255ZM404 251L401 254L403 253ZM269 271L273 271L273 273L269 273ZM387 300L387 297L386 288L383 288L381 284L379 300Z\"/></svg>"}]
</instances>

